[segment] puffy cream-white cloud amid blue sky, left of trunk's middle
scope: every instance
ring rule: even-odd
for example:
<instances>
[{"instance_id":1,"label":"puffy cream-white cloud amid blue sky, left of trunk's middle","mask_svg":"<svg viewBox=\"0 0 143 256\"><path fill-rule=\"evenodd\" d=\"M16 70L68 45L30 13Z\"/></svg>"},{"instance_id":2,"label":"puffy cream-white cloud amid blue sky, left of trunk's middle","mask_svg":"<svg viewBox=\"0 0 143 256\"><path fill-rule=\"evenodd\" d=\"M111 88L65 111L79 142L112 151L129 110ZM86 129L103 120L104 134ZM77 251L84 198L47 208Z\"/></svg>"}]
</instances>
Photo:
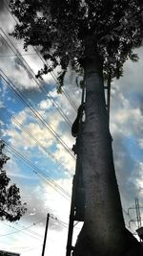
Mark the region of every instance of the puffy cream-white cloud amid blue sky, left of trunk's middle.
<instances>
[{"instance_id":1,"label":"puffy cream-white cloud amid blue sky, left of trunk's middle","mask_svg":"<svg viewBox=\"0 0 143 256\"><path fill-rule=\"evenodd\" d=\"M62 95L57 97L57 94L55 94L55 96L56 98L58 98L59 103L64 102ZM64 103L62 104L64 105ZM46 154L46 152L43 151L41 147L44 147L46 151L51 151L51 146L54 145L54 151L51 151L51 154L56 157L59 163L65 166L66 170L69 169L73 173L74 160L71 154L64 149L60 142L56 140L54 135L52 135L51 133L52 131L55 131L55 133L58 134L59 139L61 139L63 143L66 144L67 147L71 150L72 145L74 144L74 139L72 138L71 134L71 128L68 126L60 113L57 112L56 108L51 109L51 105L49 105L48 101L42 100L38 104L37 109L38 113L43 116L45 122L47 122L47 124L50 126L51 131L49 130L49 128L47 128L47 125L42 125L37 118L31 118L31 111L28 107L26 107L24 110L14 114L14 120L20 123L20 125L22 125L28 133L25 132L23 128L19 128L15 121L11 119L11 125L9 126L9 128L5 129L3 135L7 135L10 137L10 144L13 147L15 147L16 145L17 150L27 150L24 152L24 155L27 155L28 151L30 153L30 149L32 150L35 147L38 147L38 149L42 153ZM74 111L72 110L72 105L69 106L69 109L70 113L72 112L73 115ZM73 120L72 117L70 118ZM38 121L38 123L36 123L36 121ZM36 141L33 140L33 138ZM38 142L38 144L36 142Z\"/></svg>"}]
</instances>

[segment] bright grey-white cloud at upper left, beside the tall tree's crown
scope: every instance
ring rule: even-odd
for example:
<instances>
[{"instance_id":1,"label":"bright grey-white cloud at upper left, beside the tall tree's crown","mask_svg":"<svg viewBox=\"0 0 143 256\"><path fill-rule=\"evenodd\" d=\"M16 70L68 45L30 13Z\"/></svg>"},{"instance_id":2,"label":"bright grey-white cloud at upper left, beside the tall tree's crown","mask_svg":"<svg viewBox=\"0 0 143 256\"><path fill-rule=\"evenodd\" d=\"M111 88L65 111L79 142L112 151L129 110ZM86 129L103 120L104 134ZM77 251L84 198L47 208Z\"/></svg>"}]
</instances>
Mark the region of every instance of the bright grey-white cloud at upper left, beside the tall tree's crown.
<instances>
[{"instance_id":1,"label":"bright grey-white cloud at upper left, beside the tall tree's crown","mask_svg":"<svg viewBox=\"0 0 143 256\"><path fill-rule=\"evenodd\" d=\"M7 35L2 31L0 33L0 68L18 88L22 90L38 90L40 86L42 87L42 83L40 80L35 79L35 75L43 67L43 62L36 55L33 48L30 47L28 52L24 52L22 41L17 41L10 36L10 42ZM18 49L19 53L23 54L23 57L19 57L19 53L16 52L14 47ZM51 74L45 76L45 79L48 83L53 82Z\"/></svg>"}]
</instances>

